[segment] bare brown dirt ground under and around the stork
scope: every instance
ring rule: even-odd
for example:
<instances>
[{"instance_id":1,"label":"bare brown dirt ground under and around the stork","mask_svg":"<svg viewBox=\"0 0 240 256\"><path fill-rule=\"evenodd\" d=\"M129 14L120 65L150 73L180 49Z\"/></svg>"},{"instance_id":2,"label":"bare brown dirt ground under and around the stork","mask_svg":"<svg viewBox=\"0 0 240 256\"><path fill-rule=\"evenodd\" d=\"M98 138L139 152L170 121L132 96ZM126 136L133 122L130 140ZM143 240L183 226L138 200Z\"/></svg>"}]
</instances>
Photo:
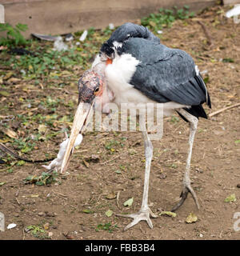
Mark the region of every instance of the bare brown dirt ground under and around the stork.
<instances>
[{"instance_id":1,"label":"bare brown dirt ground under and around the stork","mask_svg":"<svg viewBox=\"0 0 240 256\"><path fill-rule=\"evenodd\" d=\"M240 24L226 19L223 10L217 6L195 18L174 22L162 34L162 43L186 50L199 69L205 70L203 77L212 101L212 110L206 108L208 114L234 105L240 98ZM205 24L211 46L198 21ZM25 109L21 107L21 98L41 100L47 95L62 97L65 102L71 99L73 109L70 111L62 104L57 113L62 116L70 112L74 114L78 98L76 87L66 86L67 91L52 90L43 84L38 85L37 90L22 90L21 82L18 85L10 83L11 94L0 96L2 116L22 113ZM11 101L14 104L10 105ZM6 105L9 108L6 109ZM240 212L239 110L238 106L198 123L190 176L200 210L189 196L177 210L176 217L162 215L152 219L153 230L146 222L139 222L123 232L130 219L118 218L115 214L134 213L142 202L145 168L142 134L88 133L82 145L74 151L68 169L70 175L58 176L57 181L49 185L23 182L30 175L42 174L41 164L21 166L20 163L11 169L5 164L0 166L0 182L4 182L0 186L0 212L5 214L6 226L17 224L13 229L0 232L0 239L239 239L240 231L234 231L234 213ZM34 114L48 114L42 109L33 111ZM17 125L14 121L10 123L20 137L30 134L38 126L39 122L34 121L30 128L21 122ZM64 126L68 124L57 123L53 131ZM188 134L186 122L176 114L174 118L166 118L162 140L153 142L149 202L154 213L171 210L178 200ZM0 138L3 141L6 134L0 133ZM62 139L63 134L58 134L37 142L25 156L35 159L46 158L46 153L55 156ZM10 142L6 142L6 146L14 148ZM95 156L91 157L93 154ZM230 194L235 194L236 201L225 202ZM123 206L129 198L134 198L132 206ZM107 210L113 211L112 216L106 216ZM198 216L197 222L186 223L190 213Z\"/></svg>"}]
</instances>

